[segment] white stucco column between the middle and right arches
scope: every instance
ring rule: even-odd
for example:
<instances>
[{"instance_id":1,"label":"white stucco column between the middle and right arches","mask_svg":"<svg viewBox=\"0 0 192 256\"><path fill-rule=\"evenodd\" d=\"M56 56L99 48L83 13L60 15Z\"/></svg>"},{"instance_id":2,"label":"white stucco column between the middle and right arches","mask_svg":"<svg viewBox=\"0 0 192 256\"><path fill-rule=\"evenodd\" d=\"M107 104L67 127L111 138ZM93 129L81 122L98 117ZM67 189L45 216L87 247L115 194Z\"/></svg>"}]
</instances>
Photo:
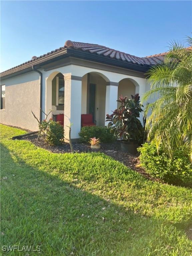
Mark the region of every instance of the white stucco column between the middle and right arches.
<instances>
[{"instance_id":1,"label":"white stucco column between the middle and right arches","mask_svg":"<svg viewBox=\"0 0 192 256\"><path fill-rule=\"evenodd\" d=\"M105 99L105 117L107 114L111 115L112 111L117 108L118 85L116 82L106 83L106 99ZM105 122L107 126L108 122Z\"/></svg>"}]
</instances>

